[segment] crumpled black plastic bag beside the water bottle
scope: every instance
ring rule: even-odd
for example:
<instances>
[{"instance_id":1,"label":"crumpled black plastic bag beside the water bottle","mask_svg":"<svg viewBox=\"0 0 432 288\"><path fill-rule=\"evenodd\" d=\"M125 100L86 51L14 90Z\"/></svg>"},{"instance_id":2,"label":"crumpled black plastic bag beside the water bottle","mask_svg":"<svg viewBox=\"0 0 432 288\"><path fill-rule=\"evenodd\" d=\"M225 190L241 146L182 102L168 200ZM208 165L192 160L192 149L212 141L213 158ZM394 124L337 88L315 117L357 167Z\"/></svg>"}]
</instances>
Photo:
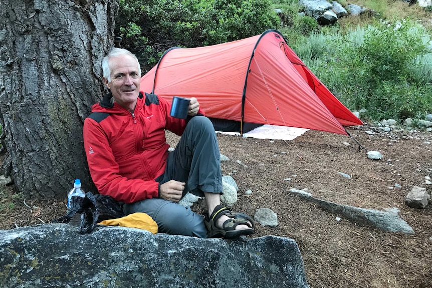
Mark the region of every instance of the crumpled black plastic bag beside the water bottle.
<instances>
[{"instance_id":1,"label":"crumpled black plastic bag beside the water bottle","mask_svg":"<svg viewBox=\"0 0 432 288\"><path fill-rule=\"evenodd\" d=\"M91 232L100 221L124 216L121 205L112 197L87 192L85 197L72 196L71 209L53 222L69 223L76 213L81 213L81 234Z\"/></svg>"}]
</instances>

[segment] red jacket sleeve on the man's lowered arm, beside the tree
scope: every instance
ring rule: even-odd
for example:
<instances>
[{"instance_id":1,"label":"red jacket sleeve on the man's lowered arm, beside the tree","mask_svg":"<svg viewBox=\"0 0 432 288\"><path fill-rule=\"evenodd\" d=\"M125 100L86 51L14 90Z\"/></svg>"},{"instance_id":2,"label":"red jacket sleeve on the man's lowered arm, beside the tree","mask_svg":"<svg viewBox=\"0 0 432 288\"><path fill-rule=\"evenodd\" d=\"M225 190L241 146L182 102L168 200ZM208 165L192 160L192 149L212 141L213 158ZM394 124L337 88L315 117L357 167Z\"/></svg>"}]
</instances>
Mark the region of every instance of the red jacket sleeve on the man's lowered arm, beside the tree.
<instances>
[{"instance_id":1,"label":"red jacket sleeve on the man's lowered arm, beside the tree","mask_svg":"<svg viewBox=\"0 0 432 288\"><path fill-rule=\"evenodd\" d=\"M98 122L86 118L83 137L90 175L100 194L124 203L158 197L158 182L128 179L120 175L108 138Z\"/></svg>"}]
</instances>

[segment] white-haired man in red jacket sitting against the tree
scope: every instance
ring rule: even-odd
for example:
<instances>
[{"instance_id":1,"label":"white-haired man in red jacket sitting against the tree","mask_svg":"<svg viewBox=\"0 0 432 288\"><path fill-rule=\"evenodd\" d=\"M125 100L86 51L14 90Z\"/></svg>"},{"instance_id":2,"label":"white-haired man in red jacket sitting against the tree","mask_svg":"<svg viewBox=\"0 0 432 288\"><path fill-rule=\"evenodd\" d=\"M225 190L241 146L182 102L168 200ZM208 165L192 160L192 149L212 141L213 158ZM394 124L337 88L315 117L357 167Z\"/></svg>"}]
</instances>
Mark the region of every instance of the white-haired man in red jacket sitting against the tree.
<instances>
[{"instance_id":1,"label":"white-haired man in red jacket sitting against the tree","mask_svg":"<svg viewBox=\"0 0 432 288\"><path fill-rule=\"evenodd\" d=\"M125 214L147 213L159 232L202 238L252 234L251 217L220 203L219 145L197 99L190 99L186 120L171 117L166 100L140 92L139 62L124 49L114 48L102 69L111 93L92 106L83 132L99 193L123 202ZM165 129L181 135L171 153ZM205 218L176 203L187 191L205 197Z\"/></svg>"}]
</instances>

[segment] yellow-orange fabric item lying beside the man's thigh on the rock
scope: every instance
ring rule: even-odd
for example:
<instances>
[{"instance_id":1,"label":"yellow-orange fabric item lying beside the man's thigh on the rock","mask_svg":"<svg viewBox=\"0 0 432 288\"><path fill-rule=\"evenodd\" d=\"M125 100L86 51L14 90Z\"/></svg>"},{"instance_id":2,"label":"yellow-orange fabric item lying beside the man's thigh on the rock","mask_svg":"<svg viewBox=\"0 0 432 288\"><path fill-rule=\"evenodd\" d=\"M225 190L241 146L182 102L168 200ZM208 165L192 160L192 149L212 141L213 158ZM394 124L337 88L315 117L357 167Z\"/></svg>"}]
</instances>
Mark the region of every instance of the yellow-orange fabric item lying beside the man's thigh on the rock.
<instances>
[{"instance_id":1,"label":"yellow-orange fabric item lying beside the man's thigh on the rock","mask_svg":"<svg viewBox=\"0 0 432 288\"><path fill-rule=\"evenodd\" d=\"M150 231L153 234L157 233L157 223L149 215L141 212L132 213L117 219L104 220L98 224L133 227Z\"/></svg>"}]
</instances>

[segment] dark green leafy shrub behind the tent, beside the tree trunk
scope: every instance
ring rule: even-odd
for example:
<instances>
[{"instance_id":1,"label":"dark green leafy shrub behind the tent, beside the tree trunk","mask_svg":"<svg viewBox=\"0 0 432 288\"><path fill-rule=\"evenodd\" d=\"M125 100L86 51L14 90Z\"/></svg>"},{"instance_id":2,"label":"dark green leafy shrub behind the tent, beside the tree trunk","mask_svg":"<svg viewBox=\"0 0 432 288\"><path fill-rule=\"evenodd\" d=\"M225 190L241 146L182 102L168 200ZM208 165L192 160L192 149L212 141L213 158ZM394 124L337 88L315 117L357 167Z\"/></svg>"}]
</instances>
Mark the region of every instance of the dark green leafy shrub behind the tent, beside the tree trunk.
<instances>
[{"instance_id":1,"label":"dark green leafy shrub behind the tent, beside the tree trunk","mask_svg":"<svg viewBox=\"0 0 432 288\"><path fill-rule=\"evenodd\" d=\"M167 49L235 41L278 28L270 0L120 0L116 35L148 71Z\"/></svg>"}]
</instances>

